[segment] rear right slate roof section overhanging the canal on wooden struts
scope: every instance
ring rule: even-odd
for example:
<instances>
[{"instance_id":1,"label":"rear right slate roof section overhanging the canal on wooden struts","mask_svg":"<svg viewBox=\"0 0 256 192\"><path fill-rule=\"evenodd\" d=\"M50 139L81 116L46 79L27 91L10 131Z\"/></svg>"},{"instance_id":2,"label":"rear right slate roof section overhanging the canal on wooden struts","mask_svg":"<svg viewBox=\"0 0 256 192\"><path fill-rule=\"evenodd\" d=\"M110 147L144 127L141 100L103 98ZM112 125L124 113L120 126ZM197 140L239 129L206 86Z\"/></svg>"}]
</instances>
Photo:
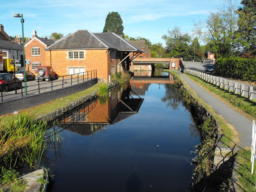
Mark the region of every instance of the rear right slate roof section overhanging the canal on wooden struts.
<instances>
[{"instance_id":1,"label":"rear right slate roof section overhanging the canal on wooden struts","mask_svg":"<svg viewBox=\"0 0 256 192\"><path fill-rule=\"evenodd\" d=\"M120 51L143 52L140 48L115 33L94 33L106 42L109 42Z\"/></svg>"}]
</instances>

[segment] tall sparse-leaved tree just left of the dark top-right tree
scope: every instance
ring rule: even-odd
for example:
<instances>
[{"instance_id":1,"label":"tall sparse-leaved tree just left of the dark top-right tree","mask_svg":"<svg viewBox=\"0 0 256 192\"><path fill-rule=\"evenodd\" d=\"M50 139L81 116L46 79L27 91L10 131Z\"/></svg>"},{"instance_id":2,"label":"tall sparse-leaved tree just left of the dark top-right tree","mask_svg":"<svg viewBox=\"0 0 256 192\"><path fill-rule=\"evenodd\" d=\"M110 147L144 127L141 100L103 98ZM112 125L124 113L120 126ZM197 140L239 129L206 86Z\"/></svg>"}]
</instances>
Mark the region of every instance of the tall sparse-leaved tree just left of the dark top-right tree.
<instances>
[{"instance_id":1,"label":"tall sparse-leaved tree just left of the dark top-right tree","mask_svg":"<svg viewBox=\"0 0 256 192\"><path fill-rule=\"evenodd\" d=\"M238 40L236 30L235 1L226 0L222 8L214 13L210 12L205 21L195 23L193 32L207 44L210 48L208 51L228 57L234 53Z\"/></svg>"}]
</instances>

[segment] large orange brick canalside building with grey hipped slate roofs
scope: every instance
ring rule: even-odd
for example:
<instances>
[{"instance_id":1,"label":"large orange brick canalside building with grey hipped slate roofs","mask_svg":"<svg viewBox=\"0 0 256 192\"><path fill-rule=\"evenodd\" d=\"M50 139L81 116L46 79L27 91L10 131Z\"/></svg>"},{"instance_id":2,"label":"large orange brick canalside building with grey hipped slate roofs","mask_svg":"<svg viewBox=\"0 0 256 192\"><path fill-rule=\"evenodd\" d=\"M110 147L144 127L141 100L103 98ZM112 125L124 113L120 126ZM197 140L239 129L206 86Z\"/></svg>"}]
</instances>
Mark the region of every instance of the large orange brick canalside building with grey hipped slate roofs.
<instances>
[{"instance_id":1,"label":"large orange brick canalside building with grey hipped slate roofs","mask_svg":"<svg viewBox=\"0 0 256 192\"><path fill-rule=\"evenodd\" d=\"M97 77L109 82L111 74L129 69L143 51L114 33L78 30L46 49L46 65L59 76L97 70ZM130 58L132 55L133 58Z\"/></svg>"}]
</instances>

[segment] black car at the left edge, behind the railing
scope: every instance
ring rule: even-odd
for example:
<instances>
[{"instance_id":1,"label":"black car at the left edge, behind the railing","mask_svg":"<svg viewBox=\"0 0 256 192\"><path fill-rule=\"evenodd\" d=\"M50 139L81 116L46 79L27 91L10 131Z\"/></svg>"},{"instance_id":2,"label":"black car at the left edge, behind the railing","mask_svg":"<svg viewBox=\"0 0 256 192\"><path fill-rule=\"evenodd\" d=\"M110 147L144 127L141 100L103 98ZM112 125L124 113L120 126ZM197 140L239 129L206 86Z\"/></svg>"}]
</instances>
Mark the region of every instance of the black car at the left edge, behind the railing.
<instances>
[{"instance_id":1,"label":"black car at the left edge, behind the railing","mask_svg":"<svg viewBox=\"0 0 256 192\"><path fill-rule=\"evenodd\" d=\"M14 78L10 73L0 73L0 90L8 92L10 89L14 89L16 84L17 89L21 89L21 80Z\"/></svg>"}]
</instances>

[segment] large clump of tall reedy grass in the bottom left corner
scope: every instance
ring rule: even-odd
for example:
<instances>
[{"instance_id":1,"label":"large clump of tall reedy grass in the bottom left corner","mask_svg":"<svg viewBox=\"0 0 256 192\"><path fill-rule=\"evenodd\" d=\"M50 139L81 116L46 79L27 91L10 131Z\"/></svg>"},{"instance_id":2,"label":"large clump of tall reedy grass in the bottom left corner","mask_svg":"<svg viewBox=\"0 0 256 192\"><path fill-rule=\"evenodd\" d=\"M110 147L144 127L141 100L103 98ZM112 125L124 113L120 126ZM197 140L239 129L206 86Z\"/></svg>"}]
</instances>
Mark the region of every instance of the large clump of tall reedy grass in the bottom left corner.
<instances>
[{"instance_id":1,"label":"large clump of tall reedy grass in the bottom left corner","mask_svg":"<svg viewBox=\"0 0 256 192\"><path fill-rule=\"evenodd\" d=\"M19 114L0 126L0 177L20 165L30 167L40 164L47 141L46 121L36 121L32 116ZM0 181L1 181L0 178Z\"/></svg>"}]
</instances>

